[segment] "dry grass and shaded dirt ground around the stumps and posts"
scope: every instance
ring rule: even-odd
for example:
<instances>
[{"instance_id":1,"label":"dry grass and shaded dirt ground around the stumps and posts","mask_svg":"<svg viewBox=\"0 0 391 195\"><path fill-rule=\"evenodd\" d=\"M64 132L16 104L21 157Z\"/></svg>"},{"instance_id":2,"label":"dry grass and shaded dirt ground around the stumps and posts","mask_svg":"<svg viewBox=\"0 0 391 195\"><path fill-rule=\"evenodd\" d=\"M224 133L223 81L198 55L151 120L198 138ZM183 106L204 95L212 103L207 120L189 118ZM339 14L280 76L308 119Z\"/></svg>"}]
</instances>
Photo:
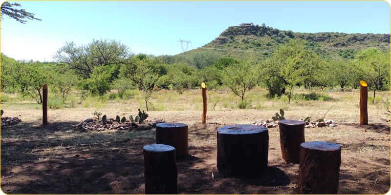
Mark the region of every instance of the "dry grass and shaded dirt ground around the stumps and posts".
<instances>
[{"instance_id":1,"label":"dry grass and shaded dirt ground around the stumps and posts","mask_svg":"<svg viewBox=\"0 0 391 195\"><path fill-rule=\"evenodd\" d=\"M179 194L295 194L298 164L282 160L277 128L269 129L269 174L255 180L218 178L216 130L223 125L269 119L280 109L285 111L285 118L317 119L332 106L325 119L336 121L338 126L306 129L305 141L341 145L339 194L385 194L390 189L390 115L386 114L382 101L389 101L390 91L376 93L374 103L368 104L369 126L358 125L358 90L295 89L290 104L286 97L269 99L266 93L260 88L249 91L246 97L250 106L239 109L240 98L230 91L208 91L205 125L201 124L200 90L187 90L182 95L168 90L153 93L148 119L189 125L192 157L177 162ZM50 97L54 95L49 94L52 104L61 104ZM81 98L75 92L65 105L59 106L61 109L48 110L49 124L42 126L41 105L16 94L2 93L3 116L22 119L15 126L1 128L2 191L6 194L143 194L142 147L154 143L154 129L142 132L74 129L77 123L93 117L95 111L108 117L128 118L136 115L139 108L145 110L141 93L130 91L129 97Z\"/></svg>"}]
</instances>

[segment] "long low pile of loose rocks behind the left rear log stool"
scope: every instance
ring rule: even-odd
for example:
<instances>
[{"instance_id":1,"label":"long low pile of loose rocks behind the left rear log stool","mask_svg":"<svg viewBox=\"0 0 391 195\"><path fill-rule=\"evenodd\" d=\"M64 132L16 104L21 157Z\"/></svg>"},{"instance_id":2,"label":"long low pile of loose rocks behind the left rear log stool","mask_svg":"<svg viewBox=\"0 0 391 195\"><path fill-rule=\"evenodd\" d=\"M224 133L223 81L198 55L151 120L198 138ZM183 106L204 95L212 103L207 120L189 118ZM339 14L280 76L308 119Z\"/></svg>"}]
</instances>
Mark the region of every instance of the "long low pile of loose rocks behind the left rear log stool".
<instances>
[{"instance_id":1,"label":"long low pile of loose rocks behind the left rear log stool","mask_svg":"<svg viewBox=\"0 0 391 195\"><path fill-rule=\"evenodd\" d=\"M96 119L93 118L87 118L85 121L79 123L76 125L76 129L82 130L82 131L106 131L111 129L118 129L118 130L149 130L153 127L156 127L157 123L165 122L162 119L158 120L151 120L151 121L144 121L148 122L148 124L136 124L134 122L131 122L130 120L126 120L124 123L118 123L114 118L107 118L106 124L103 125L102 121L99 120L99 123L96 124Z\"/></svg>"}]
</instances>

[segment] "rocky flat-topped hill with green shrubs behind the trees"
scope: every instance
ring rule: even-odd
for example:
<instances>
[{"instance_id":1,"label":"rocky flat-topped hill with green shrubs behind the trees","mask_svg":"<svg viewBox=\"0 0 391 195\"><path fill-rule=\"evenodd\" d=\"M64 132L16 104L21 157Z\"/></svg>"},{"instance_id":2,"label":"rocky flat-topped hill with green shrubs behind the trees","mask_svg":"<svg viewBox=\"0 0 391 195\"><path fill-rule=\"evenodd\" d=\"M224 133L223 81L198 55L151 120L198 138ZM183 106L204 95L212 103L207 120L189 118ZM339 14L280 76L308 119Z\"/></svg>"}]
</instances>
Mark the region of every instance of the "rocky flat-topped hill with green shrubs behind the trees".
<instances>
[{"instance_id":1,"label":"rocky flat-topped hill with green shrubs behind the trees","mask_svg":"<svg viewBox=\"0 0 391 195\"><path fill-rule=\"evenodd\" d=\"M295 33L257 24L230 26L210 43L187 53L215 50L232 58L253 56L265 59L290 39L306 40L306 48L324 59L352 59L358 51L369 47L382 52L390 51L390 34Z\"/></svg>"}]
</instances>

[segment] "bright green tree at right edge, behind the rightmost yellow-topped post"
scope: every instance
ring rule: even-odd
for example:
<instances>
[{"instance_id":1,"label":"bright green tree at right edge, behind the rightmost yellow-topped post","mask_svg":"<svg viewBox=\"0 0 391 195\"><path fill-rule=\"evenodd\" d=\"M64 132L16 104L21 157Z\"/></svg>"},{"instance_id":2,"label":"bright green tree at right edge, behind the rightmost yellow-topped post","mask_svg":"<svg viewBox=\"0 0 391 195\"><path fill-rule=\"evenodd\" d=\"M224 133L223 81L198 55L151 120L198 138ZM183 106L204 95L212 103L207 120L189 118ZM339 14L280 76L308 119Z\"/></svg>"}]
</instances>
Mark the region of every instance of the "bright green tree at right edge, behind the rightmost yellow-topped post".
<instances>
[{"instance_id":1,"label":"bright green tree at right edge, behind the rightmost yellow-topped post","mask_svg":"<svg viewBox=\"0 0 391 195\"><path fill-rule=\"evenodd\" d=\"M375 99L376 90L380 89L384 78L390 72L390 53L382 53L375 48L361 50L355 56L355 67L372 84Z\"/></svg>"}]
</instances>

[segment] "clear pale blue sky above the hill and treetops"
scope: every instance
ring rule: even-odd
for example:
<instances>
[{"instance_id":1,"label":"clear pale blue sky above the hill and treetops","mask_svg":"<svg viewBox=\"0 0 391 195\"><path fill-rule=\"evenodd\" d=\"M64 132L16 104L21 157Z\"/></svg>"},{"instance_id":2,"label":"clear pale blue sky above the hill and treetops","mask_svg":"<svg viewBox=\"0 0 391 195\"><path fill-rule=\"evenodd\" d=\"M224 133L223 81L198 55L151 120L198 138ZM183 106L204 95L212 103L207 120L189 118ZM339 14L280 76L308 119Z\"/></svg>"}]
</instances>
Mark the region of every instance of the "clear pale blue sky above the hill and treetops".
<instances>
[{"instance_id":1,"label":"clear pale blue sky above the hill and treetops","mask_svg":"<svg viewBox=\"0 0 391 195\"><path fill-rule=\"evenodd\" d=\"M390 33L386 1L36 1L19 0L42 21L0 22L0 50L14 59L52 61L65 41L115 39L135 54L181 53L243 22L293 32Z\"/></svg>"}]
</instances>

